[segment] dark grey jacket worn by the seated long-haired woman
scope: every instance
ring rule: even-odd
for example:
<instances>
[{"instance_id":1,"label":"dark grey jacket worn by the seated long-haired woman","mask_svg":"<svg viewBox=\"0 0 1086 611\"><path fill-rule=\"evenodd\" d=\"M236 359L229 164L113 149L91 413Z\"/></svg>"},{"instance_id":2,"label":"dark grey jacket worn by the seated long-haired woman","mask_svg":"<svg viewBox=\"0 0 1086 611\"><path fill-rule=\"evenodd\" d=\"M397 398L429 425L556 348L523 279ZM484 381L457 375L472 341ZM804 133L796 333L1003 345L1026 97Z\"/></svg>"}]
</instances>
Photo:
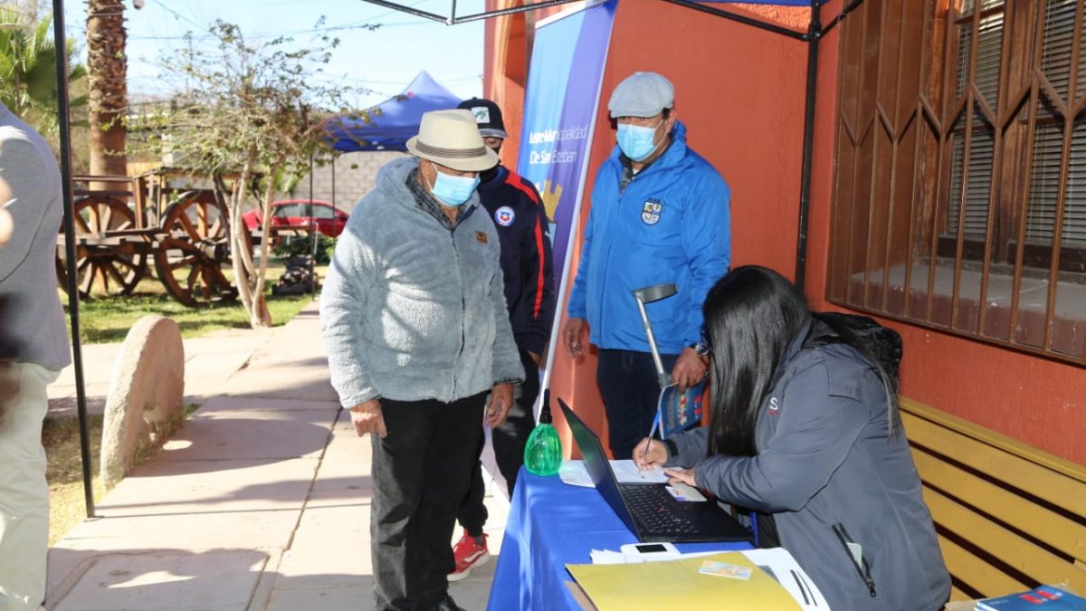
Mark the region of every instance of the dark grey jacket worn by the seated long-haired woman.
<instances>
[{"instance_id":1,"label":"dark grey jacket worn by the seated long-haired woman","mask_svg":"<svg viewBox=\"0 0 1086 611\"><path fill-rule=\"evenodd\" d=\"M781 547L833 609L942 609L950 577L905 434L887 438L883 383L853 348L805 348L806 335L759 409L757 456L706 458L703 427L672 438L668 464L694 466L721 501L772 514Z\"/></svg>"}]
</instances>

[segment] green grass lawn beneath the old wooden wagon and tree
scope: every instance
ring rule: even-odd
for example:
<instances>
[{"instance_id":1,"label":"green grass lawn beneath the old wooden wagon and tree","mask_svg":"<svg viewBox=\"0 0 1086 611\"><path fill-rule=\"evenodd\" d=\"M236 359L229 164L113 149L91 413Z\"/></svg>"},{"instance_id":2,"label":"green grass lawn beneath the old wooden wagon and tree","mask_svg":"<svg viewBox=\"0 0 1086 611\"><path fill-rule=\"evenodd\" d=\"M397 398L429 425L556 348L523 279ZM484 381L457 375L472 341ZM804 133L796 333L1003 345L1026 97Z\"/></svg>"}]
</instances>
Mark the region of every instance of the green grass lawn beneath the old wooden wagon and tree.
<instances>
[{"instance_id":1,"label":"green grass lawn beneath the old wooden wagon and tree","mask_svg":"<svg viewBox=\"0 0 1086 611\"><path fill-rule=\"evenodd\" d=\"M312 295L272 296L272 286L283 270L281 260L268 261L265 295L273 324L276 326L294 317L313 299ZM317 277L324 280L328 267L317 266L316 271ZM224 272L227 272L228 277L233 275L232 271L224 270ZM61 300L66 307L67 296L63 292ZM80 335L87 344L123 341L136 321L148 314L173 319L180 327L182 337L200 337L220 329L249 328L249 315L240 300L200 309L186 308L165 294L156 278L144 277L130 296L96 295L92 299L80 301ZM71 317L68 319L71 328Z\"/></svg>"}]
</instances>

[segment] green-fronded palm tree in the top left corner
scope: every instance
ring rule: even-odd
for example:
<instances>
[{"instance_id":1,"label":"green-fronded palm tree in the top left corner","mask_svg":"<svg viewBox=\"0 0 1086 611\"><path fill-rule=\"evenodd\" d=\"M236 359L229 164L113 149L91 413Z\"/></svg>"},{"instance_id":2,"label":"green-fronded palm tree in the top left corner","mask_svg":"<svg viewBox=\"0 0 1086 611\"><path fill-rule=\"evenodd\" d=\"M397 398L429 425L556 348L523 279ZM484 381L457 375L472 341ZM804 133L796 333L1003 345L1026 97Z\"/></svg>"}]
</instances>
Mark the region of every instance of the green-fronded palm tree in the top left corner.
<instances>
[{"instance_id":1,"label":"green-fronded palm tree in the top left corner","mask_svg":"<svg viewBox=\"0 0 1086 611\"><path fill-rule=\"evenodd\" d=\"M38 23L28 22L25 13L0 9L0 101L13 113L34 125L51 140L56 140L56 47L53 42L52 15ZM68 64L75 57L75 41L67 41ZM86 76L81 64L68 71L68 80ZM70 102L84 105L87 98Z\"/></svg>"}]
</instances>

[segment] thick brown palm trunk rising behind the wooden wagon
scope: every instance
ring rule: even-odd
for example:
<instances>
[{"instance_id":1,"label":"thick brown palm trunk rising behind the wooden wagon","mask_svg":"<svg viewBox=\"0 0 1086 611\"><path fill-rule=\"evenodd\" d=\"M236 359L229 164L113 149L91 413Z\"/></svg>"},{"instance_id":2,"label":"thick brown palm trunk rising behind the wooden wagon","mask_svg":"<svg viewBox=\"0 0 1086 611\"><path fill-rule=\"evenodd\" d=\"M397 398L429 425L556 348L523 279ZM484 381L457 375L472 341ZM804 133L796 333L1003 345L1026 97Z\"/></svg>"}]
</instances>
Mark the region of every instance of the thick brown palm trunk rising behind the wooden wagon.
<instances>
[{"instance_id":1,"label":"thick brown palm trunk rising behind the wooden wagon","mask_svg":"<svg viewBox=\"0 0 1086 611\"><path fill-rule=\"evenodd\" d=\"M90 86L90 173L126 174L128 107L123 0L87 2L87 76Z\"/></svg>"}]
</instances>

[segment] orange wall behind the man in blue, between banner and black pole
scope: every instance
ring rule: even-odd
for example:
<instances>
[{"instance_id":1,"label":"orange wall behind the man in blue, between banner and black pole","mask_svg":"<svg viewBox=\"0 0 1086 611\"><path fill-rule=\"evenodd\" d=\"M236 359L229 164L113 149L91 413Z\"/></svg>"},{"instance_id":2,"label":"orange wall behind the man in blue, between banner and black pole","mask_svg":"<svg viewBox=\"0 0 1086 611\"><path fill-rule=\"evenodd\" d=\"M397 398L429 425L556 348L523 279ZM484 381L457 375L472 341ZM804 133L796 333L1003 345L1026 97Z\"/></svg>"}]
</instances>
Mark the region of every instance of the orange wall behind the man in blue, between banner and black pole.
<instances>
[{"instance_id":1,"label":"orange wall behind the man in blue, between banner and black pole","mask_svg":"<svg viewBox=\"0 0 1086 611\"><path fill-rule=\"evenodd\" d=\"M667 24L666 36L660 24ZM733 264L757 262L791 275L805 70L806 49L797 40L657 0L621 0L585 194L615 146L606 109L610 91L635 71L659 72L675 86L675 110L689 129L689 144L731 187ZM586 220L588 207L582 227ZM579 258L578 250L573 260ZM559 349L551 387L556 397L572 397L578 412L606 438L595 364L594 354L571 363Z\"/></svg>"}]
</instances>

